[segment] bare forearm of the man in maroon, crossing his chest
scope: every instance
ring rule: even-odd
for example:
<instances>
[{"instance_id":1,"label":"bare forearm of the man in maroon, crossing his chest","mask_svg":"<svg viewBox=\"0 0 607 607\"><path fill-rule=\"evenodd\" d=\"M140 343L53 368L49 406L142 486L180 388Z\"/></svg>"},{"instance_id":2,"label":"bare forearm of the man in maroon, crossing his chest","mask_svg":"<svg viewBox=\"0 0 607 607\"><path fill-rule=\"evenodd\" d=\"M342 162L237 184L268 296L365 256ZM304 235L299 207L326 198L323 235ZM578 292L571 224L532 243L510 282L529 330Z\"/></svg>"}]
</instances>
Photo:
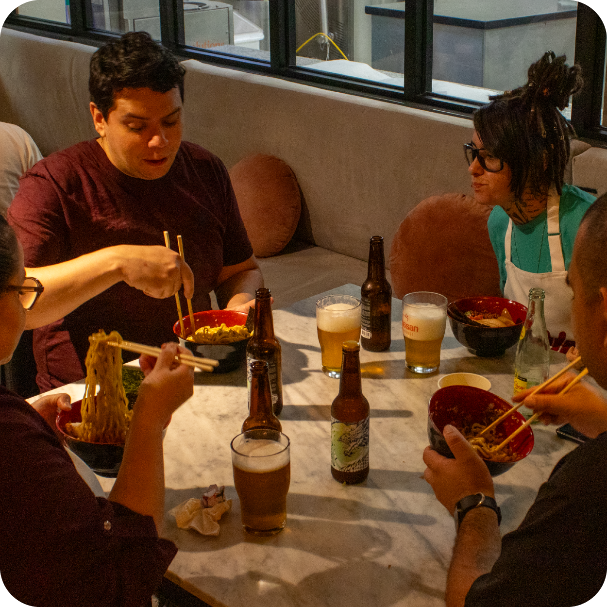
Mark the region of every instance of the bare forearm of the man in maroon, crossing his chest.
<instances>
[{"instance_id":1,"label":"bare forearm of the man in maroon, crossing his chest","mask_svg":"<svg viewBox=\"0 0 607 607\"><path fill-rule=\"evenodd\" d=\"M48 325L120 282L122 251L123 245L110 246L56 265L26 268L27 276L44 285L44 293L27 313L25 328Z\"/></svg>"}]
</instances>

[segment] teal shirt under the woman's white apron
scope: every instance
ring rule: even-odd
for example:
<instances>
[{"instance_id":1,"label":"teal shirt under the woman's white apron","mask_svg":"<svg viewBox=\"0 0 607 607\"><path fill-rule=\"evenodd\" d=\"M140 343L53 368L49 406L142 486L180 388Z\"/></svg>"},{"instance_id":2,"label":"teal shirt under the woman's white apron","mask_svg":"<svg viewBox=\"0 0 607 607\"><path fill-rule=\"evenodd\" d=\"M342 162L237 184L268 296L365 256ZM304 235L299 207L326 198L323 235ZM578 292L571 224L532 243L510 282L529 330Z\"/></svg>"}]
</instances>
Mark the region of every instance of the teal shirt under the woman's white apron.
<instances>
[{"instance_id":1,"label":"teal shirt under the woman's white apron","mask_svg":"<svg viewBox=\"0 0 607 607\"><path fill-rule=\"evenodd\" d=\"M569 270L575 234L577 234L577 229L580 227L582 217L595 200L596 198L592 194L588 194L588 192L575 186L563 184L563 192L558 204L558 223L561 232L561 248L563 249L563 257L565 258L565 270ZM535 217L535 219L532 219L531 222L524 225L517 226L515 223L512 223L510 261L517 268L520 268L520 270L534 274L552 272L550 247L548 246L548 226L546 225L547 216L548 212L544 211ZM502 293L506 286L506 251L504 249L504 239L506 238L509 219L506 211L501 206L495 206L487 220L489 238L493 251L495 251L495 257L497 257L498 266L500 266L500 288Z\"/></svg>"}]
</instances>

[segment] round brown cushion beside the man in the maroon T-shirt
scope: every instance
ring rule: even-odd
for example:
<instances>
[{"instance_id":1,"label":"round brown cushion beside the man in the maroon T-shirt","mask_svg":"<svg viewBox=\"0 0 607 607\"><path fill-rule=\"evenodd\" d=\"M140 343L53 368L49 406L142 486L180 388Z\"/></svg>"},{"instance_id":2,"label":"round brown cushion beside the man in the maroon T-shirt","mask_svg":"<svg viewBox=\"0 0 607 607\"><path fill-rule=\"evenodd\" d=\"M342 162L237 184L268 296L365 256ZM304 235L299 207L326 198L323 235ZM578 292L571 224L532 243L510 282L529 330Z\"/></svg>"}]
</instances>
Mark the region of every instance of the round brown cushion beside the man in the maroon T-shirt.
<instances>
[{"instance_id":1,"label":"round brown cushion beside the man in the maroon T-shirt","mask_svg":"<svg viewBox=\"0 0 607 607\"><path fill-rule=\"evenodd\" d=\"M235 164L229 176L256 257L271 257L293 237L301 213L297 179L289 165L270 154Z\"/></svg>"}]
</instances>

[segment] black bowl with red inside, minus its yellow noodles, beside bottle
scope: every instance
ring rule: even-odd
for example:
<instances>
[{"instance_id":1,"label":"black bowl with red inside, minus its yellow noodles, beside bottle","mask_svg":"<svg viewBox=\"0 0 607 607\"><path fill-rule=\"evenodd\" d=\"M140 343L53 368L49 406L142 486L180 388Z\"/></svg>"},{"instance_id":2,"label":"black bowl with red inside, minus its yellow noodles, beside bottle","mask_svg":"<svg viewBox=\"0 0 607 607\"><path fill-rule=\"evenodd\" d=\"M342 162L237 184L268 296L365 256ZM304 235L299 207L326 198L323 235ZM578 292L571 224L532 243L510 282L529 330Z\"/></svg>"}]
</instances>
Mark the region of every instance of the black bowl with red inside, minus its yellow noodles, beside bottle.
<instances>
[{"instance_id":1,"label":"black bowl with red inside, minus its yellow noodles, beside bottle","mask_svg":"<svg viewBox=\"0 0 607 607\"><path fill-rule=\"evenodd\" d=\"M197 329L200 327L219 327L222 323L226 327L234 327L244 325L246 317L247 315L244 312L234 310L207 310L205 312L194 312L194 324ZM189 316L183 317L183 328L186 335L189 335ZM173 332L179 337L179 344L188 348L195 356L219 361L219 366L214 368L213 373L228 373L228 371L234 371L240 367L246 359L246 345L251 339L246 337L231 344L197 344L181 337L179 322L173 325Z\"/></svg>"}]
</instances>

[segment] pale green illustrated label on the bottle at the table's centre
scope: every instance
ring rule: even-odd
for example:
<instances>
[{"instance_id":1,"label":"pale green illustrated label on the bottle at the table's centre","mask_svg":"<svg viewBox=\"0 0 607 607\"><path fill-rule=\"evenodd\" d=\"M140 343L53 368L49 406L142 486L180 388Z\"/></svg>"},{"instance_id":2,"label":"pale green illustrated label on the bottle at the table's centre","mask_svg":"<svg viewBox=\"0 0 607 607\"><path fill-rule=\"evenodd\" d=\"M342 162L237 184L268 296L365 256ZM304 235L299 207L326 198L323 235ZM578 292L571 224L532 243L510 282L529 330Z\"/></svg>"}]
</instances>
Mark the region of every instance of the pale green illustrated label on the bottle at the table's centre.
<instances>
[{"instance_id":1,"label":"pale green illustrated label on the bottle at the table's centre","mask_svg":"<svg viewBox=\"0 0 607 607\"><path fill-rule=\"evenodd\" d=\"M344 424L331 416L331 466L339 472L358 472L369 465L369 418Z\"/></svg>"}]
</instances>

